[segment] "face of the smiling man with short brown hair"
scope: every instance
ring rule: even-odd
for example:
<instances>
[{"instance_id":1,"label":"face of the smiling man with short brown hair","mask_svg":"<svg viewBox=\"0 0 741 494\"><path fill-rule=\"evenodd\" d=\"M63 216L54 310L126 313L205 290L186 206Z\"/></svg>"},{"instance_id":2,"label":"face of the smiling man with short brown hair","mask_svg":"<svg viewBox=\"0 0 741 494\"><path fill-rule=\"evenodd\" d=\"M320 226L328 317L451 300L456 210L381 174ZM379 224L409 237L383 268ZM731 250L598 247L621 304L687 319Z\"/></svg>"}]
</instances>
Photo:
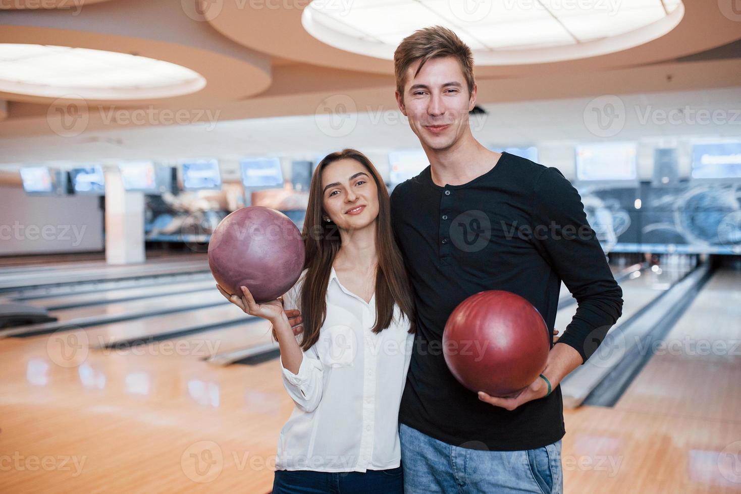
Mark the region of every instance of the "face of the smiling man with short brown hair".
<instances>
[{"instance_id":1,"label":"face of the smiling man with short brown hair","mask_svg":"<svg viewBox=\"0 0 741 494\"><path fill-rule=\"evenodd\" d=\"M454 57L432 58L414 77L417 67L419 61L407 70L403 98L396 92L399 109L422 146L449 149L470 132L468 112L476 104L476 87L469 95L463 70Z\"/></svg>"}]
</instances>

